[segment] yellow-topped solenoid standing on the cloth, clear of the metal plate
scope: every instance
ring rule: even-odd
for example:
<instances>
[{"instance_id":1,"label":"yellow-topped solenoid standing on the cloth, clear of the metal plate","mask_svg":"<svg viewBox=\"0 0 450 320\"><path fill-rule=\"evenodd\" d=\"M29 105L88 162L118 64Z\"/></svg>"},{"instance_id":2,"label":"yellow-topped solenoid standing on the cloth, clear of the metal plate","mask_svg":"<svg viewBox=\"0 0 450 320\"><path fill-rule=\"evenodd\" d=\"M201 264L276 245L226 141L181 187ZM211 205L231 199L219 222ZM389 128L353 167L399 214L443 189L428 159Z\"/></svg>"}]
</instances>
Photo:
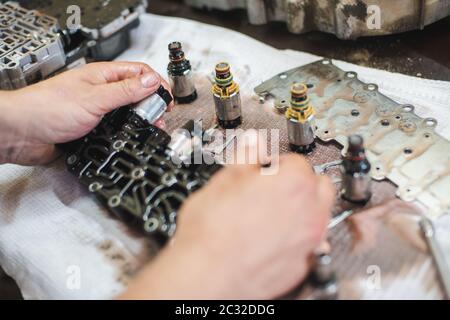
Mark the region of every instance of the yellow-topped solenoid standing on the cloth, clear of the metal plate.
<instances>
[{"instance_id":1,"label":"yellow-topped solenoid standing on the cloth, clear of the metal plate","mask_svg":"<svg viewBox=\"0 0 450 320\"><path fill-rule=\"evenodd\" d=\"M239 86L231 74L230 65L216 65L215 83L212 87L217 122L222 128L236 128L242 123L241 96Z\"/></svg>"}]
</instances>

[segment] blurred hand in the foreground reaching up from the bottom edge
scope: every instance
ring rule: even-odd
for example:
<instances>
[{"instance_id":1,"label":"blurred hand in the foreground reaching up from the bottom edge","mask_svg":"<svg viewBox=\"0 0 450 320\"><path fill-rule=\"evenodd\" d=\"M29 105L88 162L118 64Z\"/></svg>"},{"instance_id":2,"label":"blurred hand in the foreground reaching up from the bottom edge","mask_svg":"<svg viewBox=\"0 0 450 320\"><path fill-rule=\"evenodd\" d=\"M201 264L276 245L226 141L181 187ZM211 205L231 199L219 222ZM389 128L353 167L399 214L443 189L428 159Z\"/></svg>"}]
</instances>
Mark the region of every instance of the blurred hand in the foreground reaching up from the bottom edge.
<instances>
[{"instance_id":1,"label":"blurred hand in the foreground reaching up from the bottom edge","mask_svg":"<svg viewBox=\"0 0 450 320\"><path fill-rule=\"evenodd\" d=\"M278 174L233 166L179 213L174 243L122 298L267 299L296 287L325 235L334 190L297 156Z\"/></svg>"}]
</instances>

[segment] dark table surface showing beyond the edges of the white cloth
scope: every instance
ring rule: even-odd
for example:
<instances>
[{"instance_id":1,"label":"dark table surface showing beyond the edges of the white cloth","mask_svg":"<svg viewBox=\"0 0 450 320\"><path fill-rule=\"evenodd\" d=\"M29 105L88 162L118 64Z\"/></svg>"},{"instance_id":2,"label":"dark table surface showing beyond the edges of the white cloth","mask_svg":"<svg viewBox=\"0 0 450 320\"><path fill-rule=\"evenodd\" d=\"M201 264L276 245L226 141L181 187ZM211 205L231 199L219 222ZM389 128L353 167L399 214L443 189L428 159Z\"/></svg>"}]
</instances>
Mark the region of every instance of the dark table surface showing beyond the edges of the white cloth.
<instances>
[{"instance_id":1,"label":"dark table surface showing beyond the edges of the white cloth","mask_svg":"<svg viewBox=\"0 0 450 320\"><path fill-rule=\"evenodd\" d=\"M193 19L245 33L278 49L306 51L358 65L450 81L450 17L422 31L343 41L332 34L291 34L283 22L248 23L244 10L198 10L181 0L150 0L150 13ZM0 270L0 299L20 299L14 282Z\"/></svg>"}]
</instances>

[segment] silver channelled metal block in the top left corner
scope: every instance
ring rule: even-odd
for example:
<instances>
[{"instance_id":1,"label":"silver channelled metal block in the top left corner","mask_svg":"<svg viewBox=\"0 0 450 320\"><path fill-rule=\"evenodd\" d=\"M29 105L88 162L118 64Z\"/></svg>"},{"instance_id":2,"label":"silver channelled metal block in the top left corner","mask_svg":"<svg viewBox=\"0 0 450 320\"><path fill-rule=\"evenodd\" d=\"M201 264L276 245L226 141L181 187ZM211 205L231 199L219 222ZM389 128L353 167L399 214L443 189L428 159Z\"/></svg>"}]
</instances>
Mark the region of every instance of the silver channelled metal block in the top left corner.
<instances>
[{"instance_id":1,"label":"silver channelled metal block in the top left corner","mask_svg":"<svg viewBox=\"0 0 450 320\"><path fill-rule=\"evenodd\" d=\"M55 18L15 2L0 4L0 89L45 79L66 63Z\"/></svg>"}]
</instances>

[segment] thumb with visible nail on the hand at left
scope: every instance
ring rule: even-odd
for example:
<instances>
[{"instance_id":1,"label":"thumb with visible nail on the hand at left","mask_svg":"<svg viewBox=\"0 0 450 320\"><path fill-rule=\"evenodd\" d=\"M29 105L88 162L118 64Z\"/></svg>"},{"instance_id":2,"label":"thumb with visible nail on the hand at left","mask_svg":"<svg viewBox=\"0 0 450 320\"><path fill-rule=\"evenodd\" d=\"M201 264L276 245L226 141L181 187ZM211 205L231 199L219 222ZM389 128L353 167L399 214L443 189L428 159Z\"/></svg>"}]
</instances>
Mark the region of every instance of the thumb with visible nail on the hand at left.
<instances>
[{"instance_id":1,"label":"thumb with visible nail on the hand at left","mask_svg":"<svg viewBox=\"0 0 450 320\"><path fill-rule=\"evenodd\" d=\"M96 99L102 113L139 102L155 93L161 86L161 76L152 71L138 77L99 85Z\"/></svg>"}]
</instances>

